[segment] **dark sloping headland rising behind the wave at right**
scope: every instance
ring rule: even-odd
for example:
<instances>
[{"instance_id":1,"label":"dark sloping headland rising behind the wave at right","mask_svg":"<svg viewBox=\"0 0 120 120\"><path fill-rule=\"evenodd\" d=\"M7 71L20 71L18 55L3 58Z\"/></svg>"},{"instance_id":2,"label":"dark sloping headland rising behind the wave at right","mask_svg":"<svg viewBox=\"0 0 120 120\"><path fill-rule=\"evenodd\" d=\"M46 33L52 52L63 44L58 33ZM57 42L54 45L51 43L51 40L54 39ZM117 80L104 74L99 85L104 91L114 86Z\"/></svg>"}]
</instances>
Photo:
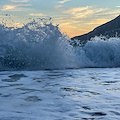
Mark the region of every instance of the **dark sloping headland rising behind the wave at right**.
<instances>
[{"instance_id":1,"label":"dark sloping headland rising behind the wave at right","mask_svg":"<svg viewBox=\"0 0 120 120\"><path fill-rule=\"evenodd\" d=\"M71 38L72 40L71 42L72 44L75 44L74 40L76 39L80 42L86 43L92 37L103 35L109 38L115 36L116 33L117 36L120 36L120 15L103 25L96 27L93 31L90 31L87 34L83 34Z\"/></svg>"}]
</instances>

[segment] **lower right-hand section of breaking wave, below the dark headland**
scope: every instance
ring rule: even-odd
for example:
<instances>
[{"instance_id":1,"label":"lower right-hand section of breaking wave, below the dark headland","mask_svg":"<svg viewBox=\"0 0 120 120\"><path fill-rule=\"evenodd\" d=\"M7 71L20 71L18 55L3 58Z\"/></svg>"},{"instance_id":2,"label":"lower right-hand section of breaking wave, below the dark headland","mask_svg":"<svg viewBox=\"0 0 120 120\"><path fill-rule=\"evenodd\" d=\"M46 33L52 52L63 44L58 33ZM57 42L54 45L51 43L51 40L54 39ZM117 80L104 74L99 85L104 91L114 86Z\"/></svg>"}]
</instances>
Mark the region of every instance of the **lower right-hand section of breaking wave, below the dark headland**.
<instances>
[{"instance_id":1,"label":"lower right-hand section of breaking wave, below the dark headland","mask_svg":"<svg viewBox=\"0 0 120 120\"><path fill-rule=\"evenodd\" d=\"M120 38L106 40L95 37L84 47L76 47L80 67L120 67Z\"/></svg>"}]
</instances>

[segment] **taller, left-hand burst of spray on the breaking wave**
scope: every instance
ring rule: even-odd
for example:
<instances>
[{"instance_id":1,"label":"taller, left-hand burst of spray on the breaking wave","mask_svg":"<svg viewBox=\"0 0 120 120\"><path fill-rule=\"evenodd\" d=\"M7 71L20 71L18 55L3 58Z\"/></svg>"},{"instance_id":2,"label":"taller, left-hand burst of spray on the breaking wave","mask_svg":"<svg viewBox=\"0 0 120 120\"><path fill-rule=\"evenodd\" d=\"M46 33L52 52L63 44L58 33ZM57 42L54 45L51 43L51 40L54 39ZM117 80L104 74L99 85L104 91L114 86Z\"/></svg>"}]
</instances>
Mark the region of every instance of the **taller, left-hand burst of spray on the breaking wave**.
<instances>
[{"instance_id":1,"label":"taller, left-hand burst of spray on the breaking wave","mask_svg":"<svg viewBox=\"0 0 120 120\"><path fill-rule=\"evenodd\" d=\"M73 47L58 25L33 20L22 28L1 25L2 69L66 69L75 67Z\"/></svg>"}]
</instances>

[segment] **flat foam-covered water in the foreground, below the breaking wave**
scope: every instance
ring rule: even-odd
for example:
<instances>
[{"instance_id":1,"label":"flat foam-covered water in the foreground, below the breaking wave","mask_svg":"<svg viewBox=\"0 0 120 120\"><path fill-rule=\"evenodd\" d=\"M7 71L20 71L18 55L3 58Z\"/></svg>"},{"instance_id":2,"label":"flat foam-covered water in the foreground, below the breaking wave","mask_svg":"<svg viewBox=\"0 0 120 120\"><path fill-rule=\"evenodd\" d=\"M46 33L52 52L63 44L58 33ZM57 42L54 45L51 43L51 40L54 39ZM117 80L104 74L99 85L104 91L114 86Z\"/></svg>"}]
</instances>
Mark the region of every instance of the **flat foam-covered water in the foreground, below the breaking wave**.
<instances>
[{"instance_id":1,"label":"flat foam-covered water in the foreground, below the breaking wave","mask_svg":"<svg viewBox=\"0 0 120 120\"><path fill-rule=\"evenodd\" d=\"M0 120L119 120L119 71L0 72Z\"/></svg>"}]
</instances>

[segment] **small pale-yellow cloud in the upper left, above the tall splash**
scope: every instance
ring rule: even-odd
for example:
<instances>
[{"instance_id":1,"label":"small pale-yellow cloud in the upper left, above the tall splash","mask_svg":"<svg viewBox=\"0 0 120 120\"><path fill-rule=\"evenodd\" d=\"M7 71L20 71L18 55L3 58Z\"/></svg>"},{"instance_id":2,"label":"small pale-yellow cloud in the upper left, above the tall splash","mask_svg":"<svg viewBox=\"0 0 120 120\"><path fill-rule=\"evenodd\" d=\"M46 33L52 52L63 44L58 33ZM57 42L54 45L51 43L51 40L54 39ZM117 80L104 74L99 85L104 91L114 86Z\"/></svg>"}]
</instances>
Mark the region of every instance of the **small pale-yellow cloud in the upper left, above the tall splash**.
<instances>
[{"instance_id":1,"label":"small pale-yellow cloud in the upper left, above the tall splash","mask_svg":"<svg viewBox=\"0 0 120 120\"><path fill-rule=\"evenodd\" d=\"M19 5L4 5L2 11L25 11L28 10L28 7L31 6L30 4L19 4Z\"/></svg>"}]
</instances>

